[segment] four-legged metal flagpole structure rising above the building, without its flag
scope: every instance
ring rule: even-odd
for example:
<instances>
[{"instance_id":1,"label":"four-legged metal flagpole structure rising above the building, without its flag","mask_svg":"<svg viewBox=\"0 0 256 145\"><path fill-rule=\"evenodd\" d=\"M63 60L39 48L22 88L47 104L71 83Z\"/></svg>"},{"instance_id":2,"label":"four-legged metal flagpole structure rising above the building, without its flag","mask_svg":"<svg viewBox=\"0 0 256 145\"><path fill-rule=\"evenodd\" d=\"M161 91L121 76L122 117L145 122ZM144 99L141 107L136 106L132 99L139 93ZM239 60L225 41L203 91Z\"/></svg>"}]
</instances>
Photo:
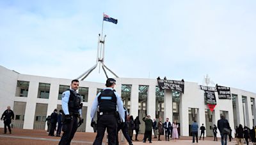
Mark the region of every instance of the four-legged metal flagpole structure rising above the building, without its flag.
<instances>
[{"instance_id":1,"label":"four-legged metal flagpole structure rising above the building, without its flag","mask_svg":"<svg viewBox=\"0 0 256 145\"><path fill-rule=\"evenodd\" d=\"M103 13L104 17L104 13ZM106 78L108 78L108 74L106 72L106 69L111 72L116 78L119 78L115 72L111 71L105 64L104 64L104 52L105 52L105 40L106 40L106 35L103 37L103 25L104 25L104 19L102 19L102 29L101 29L101 35L99 34L98 36L98 46L97 46L97 59L96 59L96 64L85 71L81 76L79 76L77 79L79 80L84 80L99 64L99 73L100 73L100 65L102 66L102 69L106 75Z\"/></svg>"}]
</instances>

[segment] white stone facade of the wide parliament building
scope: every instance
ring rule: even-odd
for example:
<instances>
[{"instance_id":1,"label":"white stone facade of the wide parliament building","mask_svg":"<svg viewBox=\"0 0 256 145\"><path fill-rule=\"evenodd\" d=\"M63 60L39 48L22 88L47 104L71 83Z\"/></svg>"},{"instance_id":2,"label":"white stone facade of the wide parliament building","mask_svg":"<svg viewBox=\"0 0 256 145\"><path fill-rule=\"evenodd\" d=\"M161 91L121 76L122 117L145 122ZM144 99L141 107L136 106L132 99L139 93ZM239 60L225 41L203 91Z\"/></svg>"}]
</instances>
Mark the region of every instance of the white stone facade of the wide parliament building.
<instances>
[{"instance_id":1,"label":"white stone facade of the wide parliament building","mask_svg":"<svg viewBox=\"0 0 256 145\"><path fill-rule=\"evenodd\" d=\"M19 74L18 72L11 71L5 67L0 66L0 111L3 112L7 106L11 106L12 109L14 102L26 102L26 109L24 113L24 129L33 129L35 123L35 111L36 103L47 104L47 115L51 114L52 111L61 104L61 100L58 100L59 86L60 85L70 85L72 79L59 79L59 78L49 78L43 76L31 76L26 74ZM15 96L17 81L29 81L28 97L18 97ZM39 83L49 83L51 88L49 91L49 99L38 98L38 85ZM131 106L130 114L133 116L138 116L139 109L139 86L148 86L148 96L147 96L147 114L150 114L151 118L156 117L156 86L157 79L140 79L140 78L116 78L116 92L118 94L122 93L122 85L131 85ZM86 132L93 132L93 128L90 127L90 108L92 106L93 99L97 95L97 88L104 88L103 83L95 83L89 81L80 81L80 86L88 87L88 102L83 102L83 106L87 107L87 112L83 116L86 118L85 128ZM231 88L231 93L237 95L236 97L236 110L233 110L232 99L218 99L218 94L216 93L217 106L212 112L212 124L217 123L220 119L220 112L228 112L225 114L227 120L230 122L230 127L234 130L234 126L242 124L252 128L256 125L253 120L253 116L256 115L255 98L256 93L247 92L244 90L239 90L237 88ZM164 92L164 118L168 117L173 121L173 103L172 103L172 93ZM244 98L244 99L243 99ZM251 100L252 99L252 100ZM202 123L207 124L205 117L205 109L209 109L204 102L204 91L200 90L197 83L185 82L184 94L180 97L179 103L179 120L180 120L180 134L184 136L189 135L189 108L196 108L197 122L198 125ZM236 118L234 118L236 114ZM134 117L135 118L135 117ZM246 118L244 120L244 118ZM235 121L236 120L236 121ZM254 121L254 123L253 123ZM236 124L235 124L236 122ZM142 122L143 123L143 122ZM211 124L211 125L212 125ZM3 127L3 122L0 123L0 127ZM46 125L45 125L46 127ZM142 131L143 132L143 131ZM206 132L206 134L211 134L211 131ZM233 131L234 133L234 131ZM220 135L220 134L218 134ZM233 135L234 137L234 135Z\"/></svg>"}]
</instances>

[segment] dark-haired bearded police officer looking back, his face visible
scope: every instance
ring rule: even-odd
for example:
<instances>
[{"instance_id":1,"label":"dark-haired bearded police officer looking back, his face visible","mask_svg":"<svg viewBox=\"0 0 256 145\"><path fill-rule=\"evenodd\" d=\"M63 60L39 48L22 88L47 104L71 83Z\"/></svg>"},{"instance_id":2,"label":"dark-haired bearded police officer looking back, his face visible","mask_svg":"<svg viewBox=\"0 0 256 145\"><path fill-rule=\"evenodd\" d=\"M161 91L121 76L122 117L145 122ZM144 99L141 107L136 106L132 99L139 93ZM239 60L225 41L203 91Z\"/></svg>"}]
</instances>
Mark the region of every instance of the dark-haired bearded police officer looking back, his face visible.
<instances>
[{"instance_id":1,"label":"dark-haired bearded police officer looking back, his face visible","mask_svg":"<svg viewBox=\"0 0 256 145\"><path fill-rule=\"evenodd\" d=\"M72 80L71 89L62 93L62 109L63 109L63 135L60 140L60 145L70 144L77 130L77 118L81 120L81 97L76 92L79 87L77 79Z\"/></svg>"}]
</instances>

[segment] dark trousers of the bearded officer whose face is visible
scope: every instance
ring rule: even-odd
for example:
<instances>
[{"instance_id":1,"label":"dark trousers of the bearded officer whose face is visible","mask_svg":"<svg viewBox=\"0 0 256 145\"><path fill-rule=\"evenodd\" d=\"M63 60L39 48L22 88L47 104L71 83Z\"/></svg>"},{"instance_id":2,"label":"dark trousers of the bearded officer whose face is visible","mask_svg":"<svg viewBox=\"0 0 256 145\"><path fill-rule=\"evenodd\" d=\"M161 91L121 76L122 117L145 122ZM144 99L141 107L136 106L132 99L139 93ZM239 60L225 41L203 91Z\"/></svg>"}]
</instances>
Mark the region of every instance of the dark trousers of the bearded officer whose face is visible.
<instances>
[{"instance_id":1,"label":"dark trousers of the bearded officer whose face is visible","mask_svg":"<svg viewBox=\"0 0 256 145\"><path fill-rule=\"evenodd\" d=\"M62 131L63 135L59 142L59 145L68 145L73 139L77 130L77 117L72 116L72 120L69 123L63 123Z\"/></svg>"}]
</instances>

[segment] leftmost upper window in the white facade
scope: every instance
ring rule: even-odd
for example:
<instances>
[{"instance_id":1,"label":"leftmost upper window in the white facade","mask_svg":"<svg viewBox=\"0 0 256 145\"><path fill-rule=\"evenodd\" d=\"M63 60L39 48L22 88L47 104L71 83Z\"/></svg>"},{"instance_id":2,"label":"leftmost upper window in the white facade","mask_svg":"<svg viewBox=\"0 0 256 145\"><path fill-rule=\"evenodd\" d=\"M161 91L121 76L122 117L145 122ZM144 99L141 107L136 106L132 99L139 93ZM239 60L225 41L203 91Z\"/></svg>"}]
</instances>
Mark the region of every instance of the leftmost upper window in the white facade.
<instances>
[{"instance_id":1,"label":"leftmost upper window in the white facade","mask_svg":"<svg viewBox=\"0 0 256 145\"><path fill-rule=\"evenodd\" d=\"M29 81L17 81L16 94L17 97L28 97Z\"/></svg>"}]
</instances>

